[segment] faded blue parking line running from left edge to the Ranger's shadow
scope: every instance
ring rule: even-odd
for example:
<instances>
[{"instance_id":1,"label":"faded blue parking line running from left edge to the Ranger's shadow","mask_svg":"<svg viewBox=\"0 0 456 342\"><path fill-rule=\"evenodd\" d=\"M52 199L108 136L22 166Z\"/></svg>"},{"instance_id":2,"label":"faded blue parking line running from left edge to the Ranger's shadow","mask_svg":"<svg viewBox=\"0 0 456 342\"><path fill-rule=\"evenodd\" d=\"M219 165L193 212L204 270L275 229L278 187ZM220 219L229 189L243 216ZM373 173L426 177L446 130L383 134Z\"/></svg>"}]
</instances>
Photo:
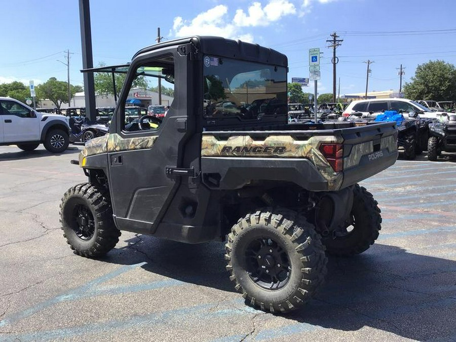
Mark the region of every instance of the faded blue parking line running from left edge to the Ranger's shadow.
<instances>
[{"instance_id":1,"label":"faded blue parking line running from left edge to the Ranger's shadow","mask_svg":"<svg viewBox=\"0 0 456 342\"><path fill-rule=\"evenodd\" d=\"M92 280L92 281L89 281L88 283L84 284L83 286L80 286L78 288L75 288L73 290L70 290L64 294L60 294L58 296L55 296L55 297L52 297L52 298L49 298L48 300L45 300L41 303L38 303L37 305L34 305L28 309L25 309L23 311L19 311L19 312L16 312L12 315L8 315L5 319L3 319L2 321L0 321L0 327L4 327L8 324L12 324L18 320L21 320L21 319L24 319L26 317L29 317L37 312L40 312L48 307L51 307L53 305L55 305L56 303L59 303L61 301L66 301L66 300L74 300L74 299L78 299L80 298L81 296L84 296L84 294L87 292L87 291L91 291L93 289L94 286L96 285L99 285L99 284L102 284L112 278L115 278L125 272L128 272L132 269L135 269L137 267L140 267L141 265L145 264L145 262L141 262L141 263L137 263L137 264L134 264L134 265L125 265L125 266L122 266L118 269L116 269L115 271L112 271L108 274L105 274L95 280Z\"/></svg>"}]
</instances>

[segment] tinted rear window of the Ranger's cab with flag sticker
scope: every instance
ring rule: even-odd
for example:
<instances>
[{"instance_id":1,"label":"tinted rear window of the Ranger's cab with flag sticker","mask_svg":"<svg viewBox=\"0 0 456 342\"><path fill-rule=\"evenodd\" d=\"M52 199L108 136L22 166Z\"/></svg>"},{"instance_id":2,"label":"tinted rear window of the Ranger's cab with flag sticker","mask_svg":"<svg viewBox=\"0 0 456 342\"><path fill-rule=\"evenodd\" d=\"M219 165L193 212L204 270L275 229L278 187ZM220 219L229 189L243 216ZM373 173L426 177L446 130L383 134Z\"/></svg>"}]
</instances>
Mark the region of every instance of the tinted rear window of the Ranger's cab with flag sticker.
<instances>
[{"instance_id":1,"label":"tinted rear window of the Ranger's cab with flag sticker","mask_svg":"<svg viewBox=\"0 0 456 342\"><path fill-rule=\"evenodd\" d=\"M287 114L285 67L205 56L203 87L205 118Z\"/></svg>"}]
</instances>

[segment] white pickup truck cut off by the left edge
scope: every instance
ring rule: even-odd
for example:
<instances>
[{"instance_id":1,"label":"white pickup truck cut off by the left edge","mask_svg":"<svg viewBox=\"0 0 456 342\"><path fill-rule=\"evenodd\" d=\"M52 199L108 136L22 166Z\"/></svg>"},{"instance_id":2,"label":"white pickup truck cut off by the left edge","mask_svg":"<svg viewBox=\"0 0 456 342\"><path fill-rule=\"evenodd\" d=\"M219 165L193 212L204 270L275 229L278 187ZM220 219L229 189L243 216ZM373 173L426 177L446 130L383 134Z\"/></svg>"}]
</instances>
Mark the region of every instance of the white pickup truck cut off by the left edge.
<instances>
[{"instance_id":1,"label":"white pickup truck cut off by the left edge","mask_svg":"<svg viewBox=\"0 0 456 342\"><path fill-rule=\"evenodd\" d=\"M31 151L43 143L61 153L69 143L70 128L62 115L37 112L10 97L0 97L0 145L17 145Z\"/></svg>"}]
</instances>

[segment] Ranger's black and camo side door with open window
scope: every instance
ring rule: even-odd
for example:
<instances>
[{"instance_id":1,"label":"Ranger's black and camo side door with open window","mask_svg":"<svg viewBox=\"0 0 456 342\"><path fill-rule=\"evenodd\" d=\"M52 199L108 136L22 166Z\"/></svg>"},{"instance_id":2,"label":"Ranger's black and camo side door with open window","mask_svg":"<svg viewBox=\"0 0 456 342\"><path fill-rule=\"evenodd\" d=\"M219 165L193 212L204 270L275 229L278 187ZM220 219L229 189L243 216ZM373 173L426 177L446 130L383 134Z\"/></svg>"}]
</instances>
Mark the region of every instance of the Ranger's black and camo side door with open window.
<instances>
[{"instance_id":1,"label":"Ranger's black and camo side door with open window","mask_svg":"<svg viewBox=\"0 0 456 342\"><path fill-rule=\"evenodd\" d=\"M179 108L185 102L174 99L163 121L151 115L131 123L125 120L128 84L130 88L138 84L153 88L157 77L173 75L174 69L172 55L132 64L116 108L116 132L108 137L107 151L111 202L116 223L123 230L151 233L153 223L180 184L180 177L173 173L185 135L186 110ZM176 94L177 81L175 85L168 81L163 78L162 87Z\"/></svg>"}]
</instances>

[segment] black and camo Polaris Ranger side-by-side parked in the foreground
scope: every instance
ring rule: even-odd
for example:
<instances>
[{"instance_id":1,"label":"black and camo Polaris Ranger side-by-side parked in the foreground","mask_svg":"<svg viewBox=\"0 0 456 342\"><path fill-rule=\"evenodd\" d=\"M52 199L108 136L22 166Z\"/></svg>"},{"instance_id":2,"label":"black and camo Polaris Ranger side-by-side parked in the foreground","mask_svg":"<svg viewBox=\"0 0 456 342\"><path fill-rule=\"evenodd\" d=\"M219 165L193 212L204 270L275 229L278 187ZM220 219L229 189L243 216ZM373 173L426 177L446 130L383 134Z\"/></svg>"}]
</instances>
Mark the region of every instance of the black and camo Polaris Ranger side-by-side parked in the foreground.
<instances>
[{"instance_id":1,"label":"black and camo Polaris Ranger side-by-side parked in the foreground","mask_svg":"<svg viewBox=\"0 0 456 342\"><path fill-rule=\"evenodd\" d=\"M74 161L88 182L68 189L60 207L71 248L103 255L122 230L225 240L226 269L247 303L280 313L308 301L326 274L325 249L354 255L378 237L377 202L357 182L395 163L397 130L288 125L287 64L268 48L195 36L114 67L127 77L109 134ZM125 123L137 78L174 88L163 121Z\"/></svg>"}]
</instances>

